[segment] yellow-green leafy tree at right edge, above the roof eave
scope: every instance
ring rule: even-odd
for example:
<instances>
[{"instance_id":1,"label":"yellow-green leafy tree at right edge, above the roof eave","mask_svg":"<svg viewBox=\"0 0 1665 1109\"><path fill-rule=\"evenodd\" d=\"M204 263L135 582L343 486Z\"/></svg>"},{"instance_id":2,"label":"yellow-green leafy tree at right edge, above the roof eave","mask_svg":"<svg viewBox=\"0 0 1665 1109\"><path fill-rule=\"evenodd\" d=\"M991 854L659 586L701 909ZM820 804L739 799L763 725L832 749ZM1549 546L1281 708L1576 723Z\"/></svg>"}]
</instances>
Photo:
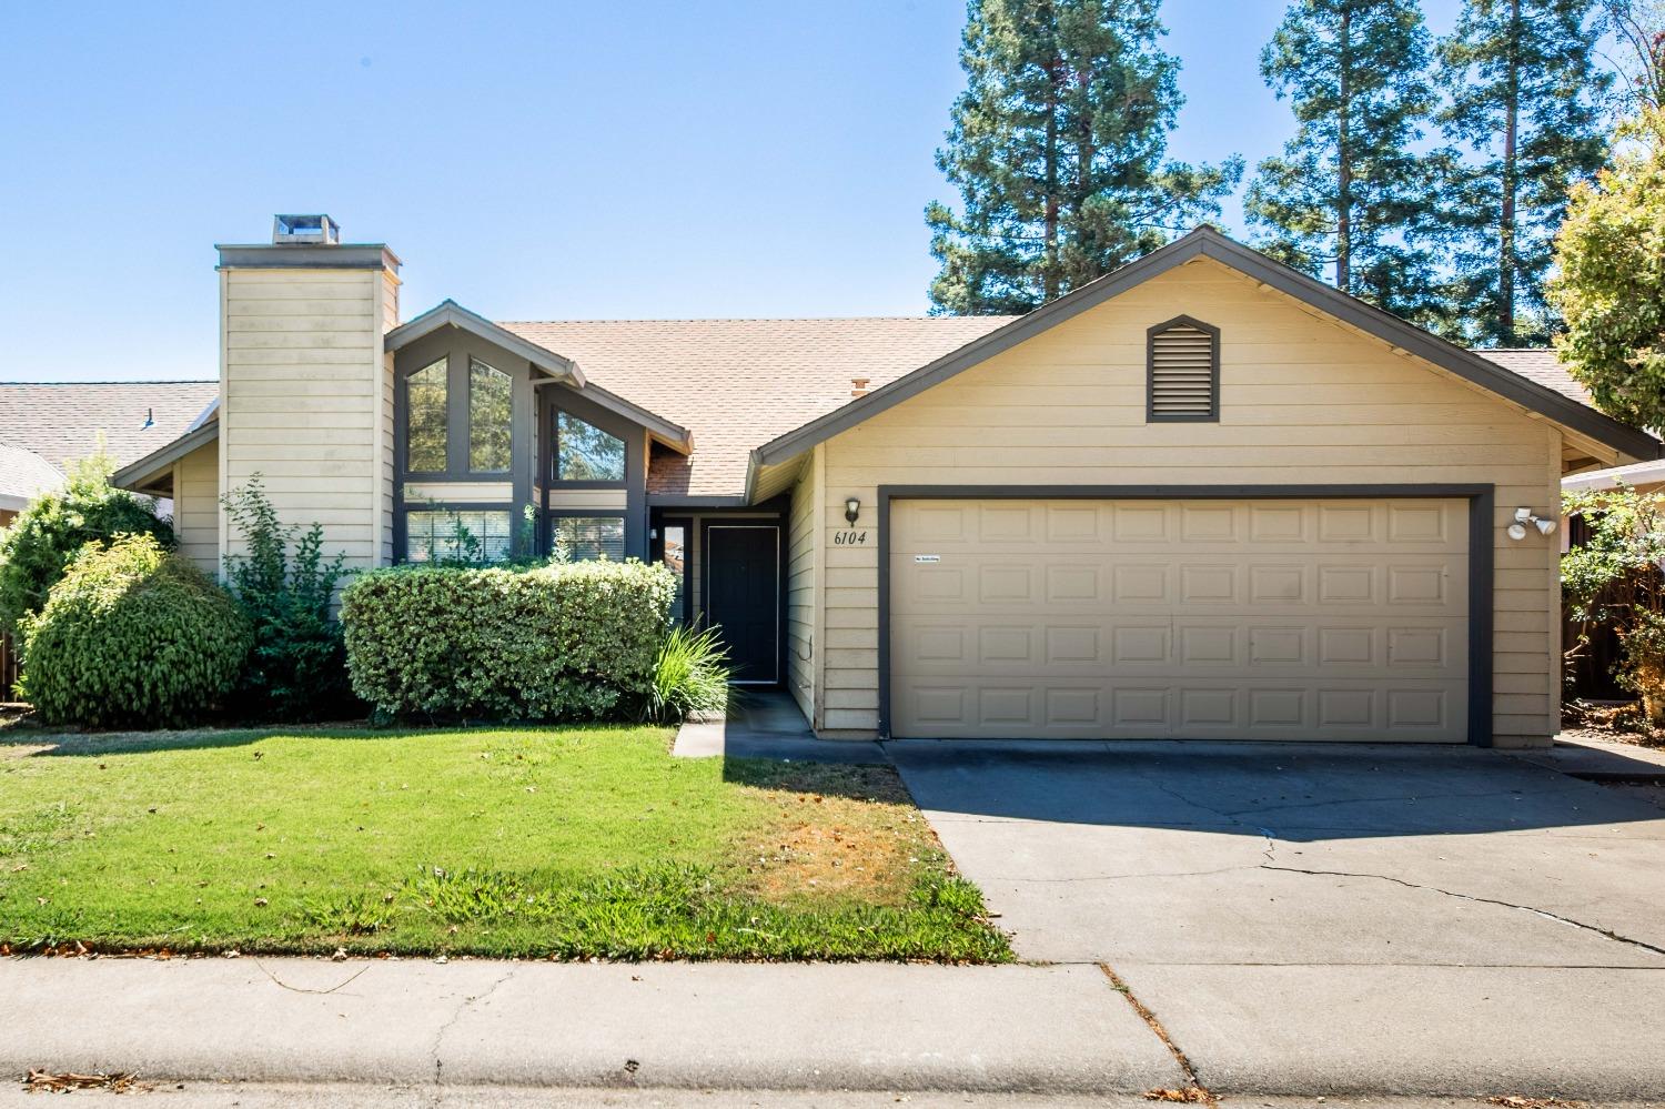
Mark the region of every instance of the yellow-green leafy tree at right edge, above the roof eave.
<instances>
[{"instance_id":1,"label":"yellow-green leafy tree at right edge, above the roof eave","mask_svg":"<svg viewBox=\"0 0 1665 1109\"><path fill-rule=\"evenodd\" d=\"M1620 128L1613 165L1573 188L1555 270L1567 371L1610 416L1665 426L1665 112Z\"/></svg>"}]
</instances>

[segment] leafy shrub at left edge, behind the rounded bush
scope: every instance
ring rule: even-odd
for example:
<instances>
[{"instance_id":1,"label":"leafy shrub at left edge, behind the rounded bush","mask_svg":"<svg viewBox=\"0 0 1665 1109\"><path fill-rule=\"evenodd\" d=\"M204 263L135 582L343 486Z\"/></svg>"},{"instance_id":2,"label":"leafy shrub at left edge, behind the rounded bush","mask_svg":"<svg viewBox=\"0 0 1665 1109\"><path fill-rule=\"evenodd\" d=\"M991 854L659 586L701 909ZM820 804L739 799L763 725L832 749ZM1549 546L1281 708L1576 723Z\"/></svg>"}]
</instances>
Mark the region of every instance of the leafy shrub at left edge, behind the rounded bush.
<instances>
[{"instance_id":1,"label":"leafy shrub at left edge, behind the rounded bush","mask_svg":"<svg viewBox=\"0 0 1665 1109\"><path fill-rule=\"evenodd\" d=\"M70 559L92 541L118 535L153 535L173 550L173 526L158 520L155 503L110 486L115 461L102 450L72 463L68 480L25 508L0 531L0 629L38 613L47 593L63 578Z\"/></svg>"}]
</instances>

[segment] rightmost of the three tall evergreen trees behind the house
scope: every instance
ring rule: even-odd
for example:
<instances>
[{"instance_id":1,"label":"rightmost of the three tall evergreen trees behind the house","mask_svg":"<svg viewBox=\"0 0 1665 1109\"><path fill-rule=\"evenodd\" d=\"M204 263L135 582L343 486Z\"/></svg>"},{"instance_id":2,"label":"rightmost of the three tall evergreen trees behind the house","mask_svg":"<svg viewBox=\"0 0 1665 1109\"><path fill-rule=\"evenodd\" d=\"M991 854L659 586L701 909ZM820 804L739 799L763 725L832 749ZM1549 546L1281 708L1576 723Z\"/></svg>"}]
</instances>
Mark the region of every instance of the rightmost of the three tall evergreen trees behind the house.
<instances>
[{"instance_id":1,"label":"rightmost of the three tall evergreen trees behind the house","mask_svg":"<svg viewBox=\"0 0 1665 1109\"><path fill-rule=\"evenodd\" d=\"M1445 133L1474 152L1449 190L1454 300L1467 338L1548 340L1543 296L1555 230L1577 182L1607 158L1598 102L1612 75L1592 57L1593 0L1465 0L1439 45Z\"/></svg>"}]
</instances>

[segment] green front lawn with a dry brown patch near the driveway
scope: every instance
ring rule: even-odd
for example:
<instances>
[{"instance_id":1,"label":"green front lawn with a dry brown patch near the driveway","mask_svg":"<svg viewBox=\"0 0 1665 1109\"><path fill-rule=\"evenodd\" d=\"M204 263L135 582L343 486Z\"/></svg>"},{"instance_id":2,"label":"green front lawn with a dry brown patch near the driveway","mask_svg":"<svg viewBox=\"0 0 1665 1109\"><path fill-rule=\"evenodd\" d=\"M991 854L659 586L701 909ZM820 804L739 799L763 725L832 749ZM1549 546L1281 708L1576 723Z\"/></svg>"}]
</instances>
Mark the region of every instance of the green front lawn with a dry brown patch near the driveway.
<instances>
[{"instance_id":1,"label":"green front lawn with a dry brown patch near the driveway","mask_svg":"<svg viewBox=\"0 0 1665 1109\"><path fill-rule=\"evenodd\" d=\"M0 946L1011 957L886 768L663 728L0 733Z\"/></svg>"}]
</instances>

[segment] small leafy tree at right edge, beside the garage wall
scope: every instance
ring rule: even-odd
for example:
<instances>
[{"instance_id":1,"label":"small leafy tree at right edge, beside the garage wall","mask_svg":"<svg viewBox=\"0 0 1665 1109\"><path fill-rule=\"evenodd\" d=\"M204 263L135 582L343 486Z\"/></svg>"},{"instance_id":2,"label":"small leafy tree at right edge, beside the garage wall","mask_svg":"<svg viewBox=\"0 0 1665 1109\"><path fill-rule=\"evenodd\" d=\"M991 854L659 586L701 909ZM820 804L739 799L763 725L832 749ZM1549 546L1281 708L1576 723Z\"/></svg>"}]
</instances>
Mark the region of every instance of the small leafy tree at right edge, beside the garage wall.
<instances>
[{"instance_id":1,"label":"small leafy tree at right edge, beside the garage wall","mask_svg":"<svg viewBox=\"0 0 1665 1109\"><path fill-rule=\"evenodd\" d=\"M1567 516L1580 516L1590 535L1562 556L1572 618L1613 628L1618 684L1642 698L1650 723L1665 724L1665 493L1620 485L1562 500Z\"/></svg>"}]
</instances>

